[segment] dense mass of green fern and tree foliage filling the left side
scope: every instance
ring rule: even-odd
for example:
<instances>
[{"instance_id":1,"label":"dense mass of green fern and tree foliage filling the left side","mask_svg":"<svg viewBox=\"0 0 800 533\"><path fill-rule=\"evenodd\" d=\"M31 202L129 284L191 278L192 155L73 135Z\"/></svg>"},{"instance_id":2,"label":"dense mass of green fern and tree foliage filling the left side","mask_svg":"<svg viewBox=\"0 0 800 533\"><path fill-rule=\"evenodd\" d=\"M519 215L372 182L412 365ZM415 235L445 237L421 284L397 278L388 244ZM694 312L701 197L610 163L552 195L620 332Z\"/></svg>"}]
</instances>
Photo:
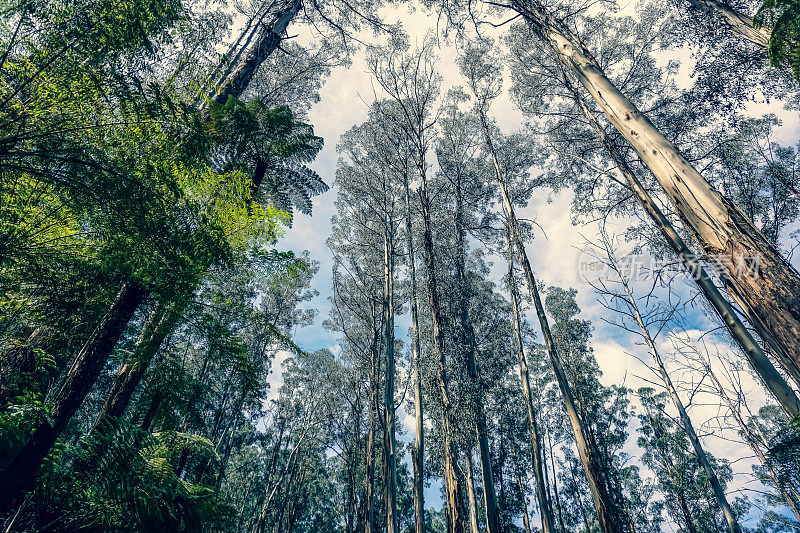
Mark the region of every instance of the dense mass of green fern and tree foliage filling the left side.
<instances>
[{"instance_id":1,"label":"dense mass of green fern and tree foliage filling the left side","mask_svg":"<svg viewBox=\"0 0 800 533\"><path fill-rule=\"evenodd\" d=\"M310 318L296 306L315 268L272 247L293 208L311 214L327 190L307 166L322 139L289 107L230 98L201 110L176 89L194 84L176 77L202 74L184 69L192 54L213 57L218 44L196 39L208 21L192 9L0 6L0 468L49 420L61 376L119 287L144 293L96 386L81 384L93 392L8 517L15 527L197 531L227 519L228 456L258 433L246 412L260 411L277 347L300 351L289 333ZM157 347L133 418L94 427L162 305L178 315L167 337L183 357L169 341ZM193 335L207 347L202 364ZM215 394L232 394L215 389L223 381L241 400L217 408ZM209 428L209 412L236 422Z\"/></svg>"}]
</instances>

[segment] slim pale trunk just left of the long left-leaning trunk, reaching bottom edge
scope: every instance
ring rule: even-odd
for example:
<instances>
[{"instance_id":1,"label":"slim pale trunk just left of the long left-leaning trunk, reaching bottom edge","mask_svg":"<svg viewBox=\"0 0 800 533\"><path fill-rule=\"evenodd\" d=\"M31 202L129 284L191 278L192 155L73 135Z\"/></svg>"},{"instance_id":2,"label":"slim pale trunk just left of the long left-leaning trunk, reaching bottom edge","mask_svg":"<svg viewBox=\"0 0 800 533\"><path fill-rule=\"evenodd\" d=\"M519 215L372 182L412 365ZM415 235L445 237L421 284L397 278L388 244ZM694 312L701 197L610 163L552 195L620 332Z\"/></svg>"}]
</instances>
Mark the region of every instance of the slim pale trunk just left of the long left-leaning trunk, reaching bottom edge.
<instances>
[{"instance_id":1,"label":"slim pale trunk just left of the long left-leaning trunk, reaching bottom edge","mask_svg":"<svg viewBox=\"0 0 800 533\"><path fill-rule=\"evenodd\" d=\"M508 229L508 228L506 228ZM528 375L528 362L525 359L525 348L522 341L522 320L519 311L519 290L517 279L514 275L514 248L510 232L508 234L508 286L511 293L511 308L514 314L514 339L519 358L519 378L522 383L522 395L525 400L525 410L528 417L528 434L531 440L531 455L533 459L533 477L536 481L536 497L539 502L539 514L542 517L542 532L554 533L553 509L548 498L547 484L542 468L542 441L539 425L536 422L536 413L533 409L533 398ZM527 513L527 511L526 511Z\"/></svg>"}]
</instances>

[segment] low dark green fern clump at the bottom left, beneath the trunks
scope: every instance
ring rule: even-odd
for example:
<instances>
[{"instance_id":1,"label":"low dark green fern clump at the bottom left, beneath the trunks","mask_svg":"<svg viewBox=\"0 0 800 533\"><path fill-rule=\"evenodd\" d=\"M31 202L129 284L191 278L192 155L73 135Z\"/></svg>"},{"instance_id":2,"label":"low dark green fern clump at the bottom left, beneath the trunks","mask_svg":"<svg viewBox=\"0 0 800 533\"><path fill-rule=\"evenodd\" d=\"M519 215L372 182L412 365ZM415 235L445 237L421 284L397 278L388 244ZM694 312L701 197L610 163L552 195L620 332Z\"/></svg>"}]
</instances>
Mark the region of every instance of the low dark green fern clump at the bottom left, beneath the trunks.
<instances>
[{"instance_id":1,"label":"low dark green fern clump at the bottom left, beneath the trunks","mask_svg":"<svg viewBox=\"0 0 800 533\"><path fill-rule=\"evenodd\" d=\"M77 453L75 450L77 449ZM90 471L59 465L98 461ZM191 453L218 460L204 437L166 431L146 433L116 424L94 433L77 448L65 447L51 458L42 481L42 503L57 528L89 531L201 531L224 516L213 488L181 477L180 457Z\"/></svg>"}]
</instances>

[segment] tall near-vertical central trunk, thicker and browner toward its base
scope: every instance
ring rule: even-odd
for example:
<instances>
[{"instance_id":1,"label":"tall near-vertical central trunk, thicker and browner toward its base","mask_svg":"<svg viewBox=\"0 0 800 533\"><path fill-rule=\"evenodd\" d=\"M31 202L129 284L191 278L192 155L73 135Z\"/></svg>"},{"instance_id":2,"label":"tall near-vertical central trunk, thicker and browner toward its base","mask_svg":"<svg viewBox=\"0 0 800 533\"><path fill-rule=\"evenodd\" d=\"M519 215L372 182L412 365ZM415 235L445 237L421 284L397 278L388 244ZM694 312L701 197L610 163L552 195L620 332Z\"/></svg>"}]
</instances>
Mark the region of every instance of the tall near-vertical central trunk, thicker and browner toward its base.
<instances>
[{"instance_id":1,"label":"tall near-vertical central trunk, thicker and browner toward its base","mask_svg":"<svg viewBox=\"0 0 800 533\"><path fill-rule=\"evenodd\" d=\"M419 163L421 186L419 189L422 208L423 243L425 267L428 273L428 305L433 326L433 350L436 357L436 384L442 408L442 455L444 459L444 482L447 503L447 527L450 533L464 531L464 502L461 495L461 482L456 472L455 447L453 443L453 405L448 389L445 360L444 332L442 331L442 310L436 288L436 260L431 228L431 204L428 197L428 180L424 161Z\"/></svg>"}]
</instances>

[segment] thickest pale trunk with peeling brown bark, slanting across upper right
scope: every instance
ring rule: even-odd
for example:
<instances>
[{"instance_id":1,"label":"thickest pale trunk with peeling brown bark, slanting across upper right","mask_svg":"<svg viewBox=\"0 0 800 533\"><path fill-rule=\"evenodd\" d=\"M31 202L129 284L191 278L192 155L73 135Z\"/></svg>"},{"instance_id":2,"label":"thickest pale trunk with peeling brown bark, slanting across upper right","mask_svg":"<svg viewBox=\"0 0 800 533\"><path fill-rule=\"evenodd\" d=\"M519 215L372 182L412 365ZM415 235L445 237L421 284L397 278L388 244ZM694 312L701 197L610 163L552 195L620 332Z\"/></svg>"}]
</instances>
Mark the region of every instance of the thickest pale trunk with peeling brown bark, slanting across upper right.
<instances>
[{"instance_id":1,"label":"thickest pale trunk with peeling brown bark, slanting across upper right","mask_svg":"<svg viewBox=\"0 0 800 533\"><path fill-rule=\"evenodd\" d=\"M724 198L606 77L580 40L538 5L514 0L556 58L586 88L639 154L681 220L724 271L748 313L759 317L800 370L800 276L730 200Z\"/></svg>"}]
</instances>

